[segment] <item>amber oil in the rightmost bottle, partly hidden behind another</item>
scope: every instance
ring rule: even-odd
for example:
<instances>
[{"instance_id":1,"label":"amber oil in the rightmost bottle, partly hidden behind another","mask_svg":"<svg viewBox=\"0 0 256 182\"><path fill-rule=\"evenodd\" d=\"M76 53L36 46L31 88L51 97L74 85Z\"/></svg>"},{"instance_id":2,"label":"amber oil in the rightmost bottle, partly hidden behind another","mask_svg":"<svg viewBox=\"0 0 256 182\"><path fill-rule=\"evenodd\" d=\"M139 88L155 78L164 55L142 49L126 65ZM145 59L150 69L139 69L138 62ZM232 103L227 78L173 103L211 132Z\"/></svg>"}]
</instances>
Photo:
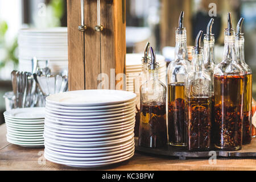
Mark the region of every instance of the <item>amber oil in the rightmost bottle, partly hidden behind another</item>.
<instances>
[{"instance_id":1,"label":"amber oil in the rightmost bottle, partly hidden behind another","mask_svg":"<svg viewBox=\"0 0 256 182\"><path fill-rule=\"evenodd\" d=\"M251 143L252 117L252 74L245 75L245 93L243 96L243 144Z\"/></svg>"}]
</instances>

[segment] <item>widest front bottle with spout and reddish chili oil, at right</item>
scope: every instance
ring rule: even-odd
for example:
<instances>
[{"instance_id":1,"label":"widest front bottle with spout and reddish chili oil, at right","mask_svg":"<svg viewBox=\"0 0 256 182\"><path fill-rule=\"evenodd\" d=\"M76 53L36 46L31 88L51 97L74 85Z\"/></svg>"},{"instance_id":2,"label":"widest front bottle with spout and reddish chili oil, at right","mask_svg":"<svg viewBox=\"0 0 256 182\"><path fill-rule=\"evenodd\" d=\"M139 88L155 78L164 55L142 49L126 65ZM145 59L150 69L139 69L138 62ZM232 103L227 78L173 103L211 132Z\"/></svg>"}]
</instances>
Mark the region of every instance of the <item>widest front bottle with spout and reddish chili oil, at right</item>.
<instances>
[{"instance_id":1,"label":"widest front bottle with spout and reddish chili oil, at right","mask_svg":"<svg viewBox=\"0 0 256 182\"><path fill-rule=\"evenodd\" d=\"M236 61L234 30L228 14L224 58L214 69L214 146L220 150L242 148L244 73Z\"/></svg>"}]
</instances>

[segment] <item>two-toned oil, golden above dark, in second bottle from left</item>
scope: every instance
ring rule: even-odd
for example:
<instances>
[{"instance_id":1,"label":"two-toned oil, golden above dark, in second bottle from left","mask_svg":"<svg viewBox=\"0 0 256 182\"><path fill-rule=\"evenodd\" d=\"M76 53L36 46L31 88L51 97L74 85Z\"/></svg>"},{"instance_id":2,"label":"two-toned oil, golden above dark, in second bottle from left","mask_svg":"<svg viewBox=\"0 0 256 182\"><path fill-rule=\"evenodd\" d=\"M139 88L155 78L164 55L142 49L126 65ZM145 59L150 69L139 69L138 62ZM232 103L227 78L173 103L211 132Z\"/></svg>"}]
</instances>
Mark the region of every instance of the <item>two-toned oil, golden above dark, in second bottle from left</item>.
<instances>
[{"instance_id":1,"label":"two-toned oil, golden above dark, in second bottle from left","mask_svg":"<svg viewBox=\"0 0 256 182\"><path fill-rule=\"evenodd\" d=\"M185 127L184 83L168 85L168 136L173 146L185 146L187 132Z\"/></svg>"}]
</instances>

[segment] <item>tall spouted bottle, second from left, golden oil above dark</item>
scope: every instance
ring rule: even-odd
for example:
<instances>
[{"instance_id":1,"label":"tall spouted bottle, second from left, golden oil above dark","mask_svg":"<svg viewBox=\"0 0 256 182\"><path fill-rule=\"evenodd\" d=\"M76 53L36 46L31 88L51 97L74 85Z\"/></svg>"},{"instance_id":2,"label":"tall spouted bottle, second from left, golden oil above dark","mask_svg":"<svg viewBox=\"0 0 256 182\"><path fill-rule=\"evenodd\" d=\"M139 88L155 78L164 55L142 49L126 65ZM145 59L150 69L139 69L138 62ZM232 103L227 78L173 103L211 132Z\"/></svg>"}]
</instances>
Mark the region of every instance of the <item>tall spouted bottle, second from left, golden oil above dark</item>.
<instances>
[{"instance_id":1,"label":"tall spouted bottle, second from left, golden oil above dark","mask_svg":"<svg viewBox=\"0 0 256 182\"><path fill-rule=\"evenodd\" d=\"M187 34L183 27L182 11L179 27L176 28L175 60L167 68L168 77L168 143L172 146L186 146L187 133L184 113L184 81L191 71L188 60Z\"/></svg>"}]
</instances>

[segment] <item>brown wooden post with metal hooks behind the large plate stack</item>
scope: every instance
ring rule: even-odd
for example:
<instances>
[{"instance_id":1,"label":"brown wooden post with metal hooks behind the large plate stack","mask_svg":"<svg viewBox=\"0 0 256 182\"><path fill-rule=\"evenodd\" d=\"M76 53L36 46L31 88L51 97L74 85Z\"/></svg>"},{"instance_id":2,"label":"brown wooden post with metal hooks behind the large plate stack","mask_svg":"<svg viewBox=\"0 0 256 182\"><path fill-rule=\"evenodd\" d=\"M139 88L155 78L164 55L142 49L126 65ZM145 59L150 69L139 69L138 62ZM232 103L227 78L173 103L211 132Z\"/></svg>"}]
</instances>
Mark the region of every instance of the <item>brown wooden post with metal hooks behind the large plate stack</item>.
<instances>
[{"instance_id":1,"label":"brown wooden post with metal hooks behind the large plate stack","mask_svg":"<svg viewBox=\"0 0 256 182\"><path fill-rule=\"evenodd\" d=\"M84 32L78 30L80 0L67 0L67 9L69 90L115 89L116 84L125 84L125 78L118 77L125 74L125 0L101 0L102 32L94 30L97 0L84 0Z\"/></svg>"}]
</instances>

